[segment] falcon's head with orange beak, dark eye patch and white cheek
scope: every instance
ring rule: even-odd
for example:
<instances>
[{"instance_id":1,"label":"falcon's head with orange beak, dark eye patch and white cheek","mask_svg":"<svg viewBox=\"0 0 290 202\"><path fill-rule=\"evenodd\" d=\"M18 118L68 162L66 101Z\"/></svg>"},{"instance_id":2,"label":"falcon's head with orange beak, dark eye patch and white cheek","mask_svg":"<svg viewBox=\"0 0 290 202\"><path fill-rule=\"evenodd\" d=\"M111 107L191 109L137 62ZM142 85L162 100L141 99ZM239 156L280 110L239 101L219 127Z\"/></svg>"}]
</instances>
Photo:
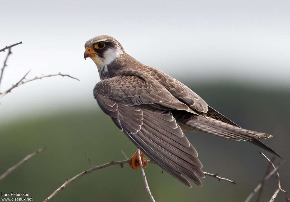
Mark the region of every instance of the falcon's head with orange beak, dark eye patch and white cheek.
<instances>
[{"instance_id":1,"label":"falcon's head with orange beak, dark eye patch and white cheek","mask_svg":"<svg viewBox=\"0 0 290 202\"><path fill-rule=\"evenodd\" d=\"M90 57L97 67L108 65L124 53L121 44L113 37L102 35L88 40L84 58Z\"/></svg>"}]
</instances>

